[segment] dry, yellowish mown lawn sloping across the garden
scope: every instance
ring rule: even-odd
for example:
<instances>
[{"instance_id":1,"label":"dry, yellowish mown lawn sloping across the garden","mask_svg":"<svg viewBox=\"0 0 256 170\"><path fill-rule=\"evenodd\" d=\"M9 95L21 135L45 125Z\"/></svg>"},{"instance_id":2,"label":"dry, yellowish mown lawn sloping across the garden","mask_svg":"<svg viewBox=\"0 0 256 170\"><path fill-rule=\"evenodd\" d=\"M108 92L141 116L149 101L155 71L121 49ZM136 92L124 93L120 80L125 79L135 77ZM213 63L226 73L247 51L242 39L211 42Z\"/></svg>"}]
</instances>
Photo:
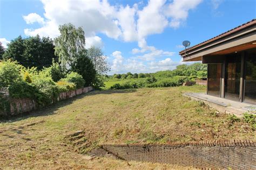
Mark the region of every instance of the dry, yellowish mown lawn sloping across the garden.
<instances>
[{"instance_id":1,"label":"dry, yellowish mown lawn sloping across the garden","mask_svg":"<svg viewBox=\"0 0 256 170\"><path fill-rule=\"evenodd\" d=\"M182 96L184 91L204 90L194 86L93 91L1 122L0 167L180 169L110 158L87 160L79 152L99 144L255 138L249 124L232 121L230 116ZM76 152L65 137L78 130L85 131L89 145Z\"/></svg>"}]
</instances>

